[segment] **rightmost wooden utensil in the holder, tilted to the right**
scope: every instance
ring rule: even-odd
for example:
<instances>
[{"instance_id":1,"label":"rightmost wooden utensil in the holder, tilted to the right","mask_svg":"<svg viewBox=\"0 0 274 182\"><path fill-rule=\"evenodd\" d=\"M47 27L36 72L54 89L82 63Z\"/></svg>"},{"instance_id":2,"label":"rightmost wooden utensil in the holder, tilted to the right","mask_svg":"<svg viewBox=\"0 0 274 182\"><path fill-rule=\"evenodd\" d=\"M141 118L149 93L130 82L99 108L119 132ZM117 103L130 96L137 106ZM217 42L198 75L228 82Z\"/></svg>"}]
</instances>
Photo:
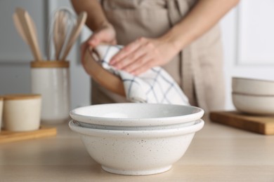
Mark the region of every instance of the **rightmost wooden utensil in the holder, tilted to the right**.
<instances>
[{"instance_id":1,"label":"rightmost wooden utensil in the holder, tilted to the right","mask_svg":"<svg viewBox=\"0 0 274 182\"><path fill-rule=\"evenodd\" d=\"M72 45L74 44L77 37L79 36L82 27L84 27L84 23L86 22L86 16L87 16L86 12L82 12L79 14L77 18L77 23L72 29L70 38L67 41L67 45L65 46L65 50L64 50L63 56L61 57L61 60L65 61L68 53L70 52L70 49L72 48Z\"/></svg>"}]
</instances>

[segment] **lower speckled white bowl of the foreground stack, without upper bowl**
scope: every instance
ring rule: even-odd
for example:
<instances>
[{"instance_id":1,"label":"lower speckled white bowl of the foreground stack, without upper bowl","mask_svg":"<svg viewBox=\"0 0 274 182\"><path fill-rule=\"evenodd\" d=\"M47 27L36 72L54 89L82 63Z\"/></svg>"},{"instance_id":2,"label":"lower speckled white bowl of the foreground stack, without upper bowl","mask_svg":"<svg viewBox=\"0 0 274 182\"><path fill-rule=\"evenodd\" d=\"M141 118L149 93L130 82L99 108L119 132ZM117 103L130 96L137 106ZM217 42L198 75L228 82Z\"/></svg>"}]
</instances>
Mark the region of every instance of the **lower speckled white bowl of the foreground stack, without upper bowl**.
<instances>
[{"instance_id":1,"label":"lower speckled white bowl of the foreground stack, without upper bowl","mask_svg":"<svg viewBox=\"0 0 274 182\"><path fill-rule=\"evenodd\" d=\"M195 132L204 126L195 125L167 130L98 130L80 127L70 121L71 130L81 136L89 155L111 173L147 175L166 172L188 149Z\"/></svg>"}]
</instances>

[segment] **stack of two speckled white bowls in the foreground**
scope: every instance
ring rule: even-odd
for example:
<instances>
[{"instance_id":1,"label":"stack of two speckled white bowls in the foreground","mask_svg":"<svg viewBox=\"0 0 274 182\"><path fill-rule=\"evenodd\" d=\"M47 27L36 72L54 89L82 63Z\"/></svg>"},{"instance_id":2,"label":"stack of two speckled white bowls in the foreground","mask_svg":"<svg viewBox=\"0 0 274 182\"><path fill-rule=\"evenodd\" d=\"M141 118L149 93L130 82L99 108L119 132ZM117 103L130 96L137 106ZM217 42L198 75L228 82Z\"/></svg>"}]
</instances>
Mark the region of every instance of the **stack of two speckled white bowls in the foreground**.
<instances>
[{"instance_id":1,"label":"stack of two speckled white bowls in the foreground","mask_svg":"<svg viewBox=\"0 0 274 182\"><path fill-rule=\"evenodd\" d=\"M99 104L74 109L71 130L102 168L111 173L166 172L202 129L204 111L169 104Z\"/></svg>"}]
</instances>

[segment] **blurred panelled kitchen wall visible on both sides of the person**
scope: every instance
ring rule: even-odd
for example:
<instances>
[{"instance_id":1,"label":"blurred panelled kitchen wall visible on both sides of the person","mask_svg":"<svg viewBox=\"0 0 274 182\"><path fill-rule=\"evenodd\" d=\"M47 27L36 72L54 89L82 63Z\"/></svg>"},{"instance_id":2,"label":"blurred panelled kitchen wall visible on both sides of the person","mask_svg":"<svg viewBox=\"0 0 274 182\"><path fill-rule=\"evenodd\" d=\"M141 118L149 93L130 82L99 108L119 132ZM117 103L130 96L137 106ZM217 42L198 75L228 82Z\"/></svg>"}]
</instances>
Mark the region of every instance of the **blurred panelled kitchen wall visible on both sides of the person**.
<instances>
[{"instance_id":1,"label":"blurred panelled kitchen wall visible on both sides of the person","mask_svg":"<svg viewBox=\"0 0 274 182\"><path fill-rule=\"evenodd\" d=\"M16 7L25 8L37 27L39 46L46 53L48 21L51 13L69 0L1 0L0 1L0 94L30 93L32 53L13 25ZM226 109L233 109L231 78L274 80L274 1L242 0L221 20L223 30L224 71L226 75ZM81 67L79 46L89 37L86 27L70 51L71 107L90 104L89 76ZM46 57L46 55L44 55Z\"/></svg>"}]
</instances>

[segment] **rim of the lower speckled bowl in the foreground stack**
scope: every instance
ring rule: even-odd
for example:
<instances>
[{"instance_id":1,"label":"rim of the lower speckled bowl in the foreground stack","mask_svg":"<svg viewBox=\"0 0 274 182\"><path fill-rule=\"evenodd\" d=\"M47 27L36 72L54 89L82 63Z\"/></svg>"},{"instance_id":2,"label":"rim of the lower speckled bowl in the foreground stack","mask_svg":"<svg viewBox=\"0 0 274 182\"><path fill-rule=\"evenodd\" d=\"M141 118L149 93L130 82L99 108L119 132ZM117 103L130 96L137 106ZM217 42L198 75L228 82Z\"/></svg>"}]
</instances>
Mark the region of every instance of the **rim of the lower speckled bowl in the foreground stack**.
<instances>
[{"instance_id":1,"label":"rim of the lower speckled bowl in the foreground stack","mask_svg":"<svg viewBox=\"0 0 274 182\"><path fill-rule=\"evenodd\" d=\"M100 130L94 128L81 127L76 125L70 120L69 127L72 131L79 134L88 136L102 136L102 137L172 137L181 134L195 133L204 127L204 120L200 119L194 125L189 127L178 127L172 129L161 129L161 130Z\"/></svg>"}]
</instances>

